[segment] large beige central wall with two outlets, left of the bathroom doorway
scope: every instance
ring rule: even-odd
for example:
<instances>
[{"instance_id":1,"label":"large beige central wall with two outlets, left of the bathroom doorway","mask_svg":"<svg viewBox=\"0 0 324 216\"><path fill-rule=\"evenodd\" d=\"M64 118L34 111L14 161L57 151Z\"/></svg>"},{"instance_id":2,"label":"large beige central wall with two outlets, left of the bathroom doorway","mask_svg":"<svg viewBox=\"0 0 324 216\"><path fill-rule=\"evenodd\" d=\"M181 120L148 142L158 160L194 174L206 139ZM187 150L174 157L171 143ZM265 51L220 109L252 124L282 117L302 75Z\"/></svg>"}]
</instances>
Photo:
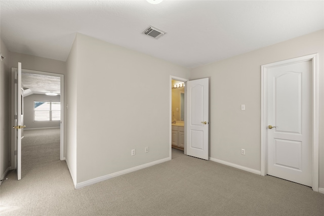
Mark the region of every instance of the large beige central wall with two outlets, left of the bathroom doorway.
<instances>
[{"instance_id":1,"label":"large beige central wall with two outlets, left of the bathroom doorway","mask_svg":"<svg viewBox=\"0 0 324 216\"><path fill-rule=\"evenodd\" d=\"M76 91L68 89L67 104L75 110L76 103L76 182L169 158L170 75L188 78L189 69L82 34L71 56L67 74L74 75L67 82L76 77Z\"/></svg>"}]
</instances>

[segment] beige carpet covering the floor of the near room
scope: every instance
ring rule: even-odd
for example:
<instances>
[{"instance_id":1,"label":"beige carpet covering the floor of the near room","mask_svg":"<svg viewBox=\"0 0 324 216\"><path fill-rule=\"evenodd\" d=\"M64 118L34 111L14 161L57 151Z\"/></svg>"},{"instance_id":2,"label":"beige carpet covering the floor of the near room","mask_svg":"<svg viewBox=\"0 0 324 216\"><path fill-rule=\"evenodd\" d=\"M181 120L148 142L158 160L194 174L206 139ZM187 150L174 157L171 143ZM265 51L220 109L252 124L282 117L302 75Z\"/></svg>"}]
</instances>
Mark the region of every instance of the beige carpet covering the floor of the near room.
<instances>
[{"instance_id":1,"label":"beige carpet covering the floor of the near room","mask_svg":"<svg viewBox=\"0 0 324 216\"><path fill-rule=\"evenodd\" d=\"M274 177L186 156L75 190L65 161L15 172L1 215L324 215L324 194Z\"/></svg>"}]
</instances>

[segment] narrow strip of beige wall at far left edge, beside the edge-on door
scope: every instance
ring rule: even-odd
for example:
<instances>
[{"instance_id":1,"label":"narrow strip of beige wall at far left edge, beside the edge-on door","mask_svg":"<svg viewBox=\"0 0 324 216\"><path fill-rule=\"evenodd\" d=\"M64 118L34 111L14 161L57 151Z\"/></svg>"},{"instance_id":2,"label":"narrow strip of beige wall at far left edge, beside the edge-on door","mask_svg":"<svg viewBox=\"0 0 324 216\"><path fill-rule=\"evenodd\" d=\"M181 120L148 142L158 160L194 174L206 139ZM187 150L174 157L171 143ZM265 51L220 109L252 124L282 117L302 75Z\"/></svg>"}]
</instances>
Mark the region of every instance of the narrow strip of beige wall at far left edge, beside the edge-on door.
<instances>
[{"instance_id":1,"label":"narrow strip of beige wall at far left edge, beside the edge-on door","mask_svg":"<svg viewBox=\"0 0 324 216\"><path fill-rule=\"evenodd\" d=\"M0 61L0 178L4 178L6 170L11 165L10 160L10 80L11 73L8 66L9 51L0 38L0 53L5 59ZM1 183L0 183L1 184Z\"/></svg>"}]
</instances>

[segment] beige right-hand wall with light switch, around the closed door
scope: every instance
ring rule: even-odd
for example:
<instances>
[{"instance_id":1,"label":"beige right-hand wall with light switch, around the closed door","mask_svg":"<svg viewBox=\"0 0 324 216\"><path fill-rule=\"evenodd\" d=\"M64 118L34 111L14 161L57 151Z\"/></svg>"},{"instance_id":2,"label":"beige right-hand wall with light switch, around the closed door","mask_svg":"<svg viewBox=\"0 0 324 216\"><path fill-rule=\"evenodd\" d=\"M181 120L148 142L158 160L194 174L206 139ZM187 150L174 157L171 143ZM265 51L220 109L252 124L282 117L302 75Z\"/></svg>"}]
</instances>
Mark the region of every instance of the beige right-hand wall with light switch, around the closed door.
<instances>
[{"instance_id":1,"label":"beige right-hand wall with light switch, around the closed door","mask_svg":"<svg viewBox=\"0 0 324 216\"><path fill-rule=\"evenodd\" d=\"M323 38L321 30L191 70L191 79L210 78L210 157L260 170L261 65L318 53L319 187L324 188Z\"/></svg>"}]
</instances>

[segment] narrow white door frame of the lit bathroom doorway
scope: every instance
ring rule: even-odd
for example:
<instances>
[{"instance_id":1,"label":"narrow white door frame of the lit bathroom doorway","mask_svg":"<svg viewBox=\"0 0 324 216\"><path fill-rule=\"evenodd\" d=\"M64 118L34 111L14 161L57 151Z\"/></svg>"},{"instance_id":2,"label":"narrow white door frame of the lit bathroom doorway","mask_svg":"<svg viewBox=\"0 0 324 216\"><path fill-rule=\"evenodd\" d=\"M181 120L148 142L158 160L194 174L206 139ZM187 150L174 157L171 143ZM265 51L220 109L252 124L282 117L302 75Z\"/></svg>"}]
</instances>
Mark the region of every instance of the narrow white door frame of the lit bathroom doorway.
<instances>
[{"instance_id":1,"label":"narrow white door frame of the lit bathroom doorway","mask_svg":"<svg viewBox=\"0 0 324 216\"><path fill-rule=\"evenodd\" d=\"M170 143L170 159L172 159L172 79L174 80L177 80L177 81L181 81L181 82L186 82L186 81L189 81L189 79L186 79L186 78L181 78L181 77L177 77L177 76L172 76L170 75L170 81L169 81L169 94L170 94L170 113L169 113L169 125L170 125L170 129L169 129L169 143ZM187 106L186 106L186 85L184 87L184 95L185 95L185 103L184 103L184 113L186 113L186 109L187 109ZM184 115L184 143L186 144L186 115ZM186 148L186 145L184 145L184 151L183 153L184 154L187 154L186 152L187 148Z\"/></svg>"}]
</instances>

